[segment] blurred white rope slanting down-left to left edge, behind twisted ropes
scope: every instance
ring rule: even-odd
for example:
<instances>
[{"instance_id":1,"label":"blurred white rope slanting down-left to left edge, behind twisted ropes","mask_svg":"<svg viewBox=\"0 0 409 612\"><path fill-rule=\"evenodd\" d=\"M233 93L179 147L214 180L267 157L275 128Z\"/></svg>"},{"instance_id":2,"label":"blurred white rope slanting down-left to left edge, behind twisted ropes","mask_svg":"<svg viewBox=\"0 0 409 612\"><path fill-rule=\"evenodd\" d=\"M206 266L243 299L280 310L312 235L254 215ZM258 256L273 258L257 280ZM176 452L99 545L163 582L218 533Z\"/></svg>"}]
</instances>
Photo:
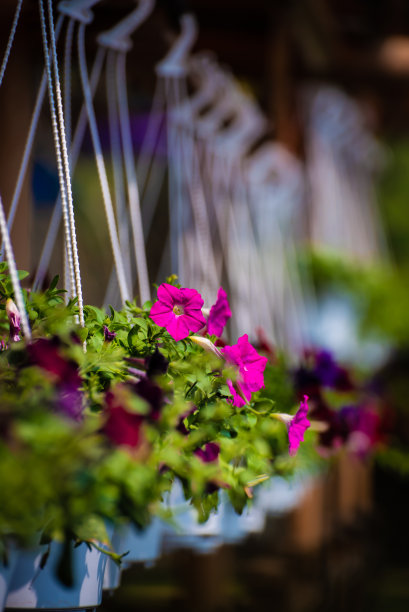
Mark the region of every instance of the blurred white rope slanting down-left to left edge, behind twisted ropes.
<instances>
[{"instance_id":1,"label":"blurred white rope slanting down-left to left edge, behind twisted ropes","mask_svg":"<svg viewBox=\"0 0 409 612\"><path fill-rule=\"evenodd\" d=\"M58 40L58 37L60 35L63 21L64 21L64 17L60 15L57 20L56 26L55 26L56 40ZM8 219L7 219L7 227L8 227L9 232L11 232L12 227L13 227L14 218L15 218L16 211L17 211L17 205L20 200L21 190L23 189L23 184L24 184L24 179L25 179L26 172L27 172L28 162L30 160L31 151L33 149L34 138L35 138L35 134L37 131L38 121L40 119L41 108L44 102L46 87L47 87L47 73L46 73L46 70L44 70L43 76L41 78L40 87L38 89L33 114L31 116L30 128L28 130L26 143L24 145L23 157L22 157L20 168L18 171L17 183L14 188L14 193L13 193L13 197L11 200L10 210L9 210ZM1 260L3 259L3 254L4 254L4 247L2 245L1 251L0 251Z\"/></svg>"}]
</instances>

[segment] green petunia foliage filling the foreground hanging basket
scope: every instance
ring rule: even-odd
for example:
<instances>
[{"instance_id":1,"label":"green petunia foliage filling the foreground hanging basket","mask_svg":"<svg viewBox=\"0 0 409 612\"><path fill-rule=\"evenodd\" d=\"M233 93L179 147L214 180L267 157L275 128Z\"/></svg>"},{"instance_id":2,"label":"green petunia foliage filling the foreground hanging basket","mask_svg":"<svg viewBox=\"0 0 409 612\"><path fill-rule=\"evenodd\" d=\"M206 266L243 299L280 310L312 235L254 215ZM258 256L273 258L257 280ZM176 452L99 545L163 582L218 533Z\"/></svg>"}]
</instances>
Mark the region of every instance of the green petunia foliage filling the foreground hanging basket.
<instances>
[{"instance_id":1,"label":"green petunia foliage filling the foreground hanging basket","mask_svg":"<svg viewBox=\"0 0 409 612\"><path fill-rule=\"evenodd\" d=\"M161 511L175 478L206 520L219 502L217 487L228 491L240 512L251 487L293 469L286 428L272 418L275 411L295 408L284 364L269 365L266 389L236 408L227 386L234 370L190 338L175 342L150 319L150 303L140 308L128 302L108 313L85 306L81 328L76 301L65 303L57 283L54 279L42 293L25 291L24 298L33 340L58 336L64 357L77 364L85 419L70 422L53 410L53 377L36 366L22 367L24 341L0 355L0 424L1 419L12 424L7 435L0 427L0 482L8 499L0 506L0 535L27 540L43 529L53 537L91 539L100 533L102 519L143 526ZM3 302L13 296L4 266L0 297L0 330L7 340ZM113 340L105 339L105 327L115 332ZM157 350L169 362L167 372L155 378L166 398L160 418L144 423L142 450L114 448L102 430L106 393L134 380L130 360L143 368ZM126 408L147 410L143 401ZM220 454L206 463L195 451L209 442L218 444Z\"/></svg>"}]
</instances>

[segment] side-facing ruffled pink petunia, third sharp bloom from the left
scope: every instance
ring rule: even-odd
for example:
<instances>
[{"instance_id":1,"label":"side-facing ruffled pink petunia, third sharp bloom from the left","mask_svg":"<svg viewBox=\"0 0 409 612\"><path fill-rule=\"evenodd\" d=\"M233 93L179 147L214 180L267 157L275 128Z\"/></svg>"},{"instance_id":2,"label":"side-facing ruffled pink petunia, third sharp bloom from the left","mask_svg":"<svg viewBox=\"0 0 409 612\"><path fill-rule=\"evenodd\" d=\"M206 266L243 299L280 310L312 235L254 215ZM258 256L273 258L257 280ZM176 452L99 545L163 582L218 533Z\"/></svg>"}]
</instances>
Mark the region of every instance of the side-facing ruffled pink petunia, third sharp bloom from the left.
<instances>
[{"instance_id":1,"label":"side-facing ruffled pink petunia, third sharp bloom from the left","mask_svg":"<svg viewBox=\"0 0 409 612\"><path fill-rule=\"evenodd\" d=\"M247 334L241 336L237 344L225 346L222 353L227 362L238 368L235 384L231 380L227 384L233 396L233 405L241 408L250 401L252 393L264 387L263 373L268 359L257 353Z\"/></svg>"}]
</instances>

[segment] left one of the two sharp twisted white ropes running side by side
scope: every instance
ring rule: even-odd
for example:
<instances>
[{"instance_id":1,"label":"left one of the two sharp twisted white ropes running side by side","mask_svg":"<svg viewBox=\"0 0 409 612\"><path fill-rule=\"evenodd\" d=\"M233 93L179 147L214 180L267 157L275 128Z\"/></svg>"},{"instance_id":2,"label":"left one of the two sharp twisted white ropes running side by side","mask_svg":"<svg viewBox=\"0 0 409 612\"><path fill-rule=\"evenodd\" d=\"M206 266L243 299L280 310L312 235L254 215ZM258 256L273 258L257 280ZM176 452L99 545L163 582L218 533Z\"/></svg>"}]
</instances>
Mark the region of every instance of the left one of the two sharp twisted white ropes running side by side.
<instances>
[{"instance_id":1,"label":"left one of the two sharp twisted white ropes running side by side","mask_svg":"<svg viewBox=\"0 0 409 612\"><path fill-rule=\"evenodd\" d=\"M60 134L59 134L58 124L57 124L57 113L56 113L55 100L54 100L53 80L52 80L52 74L51 74L51 65L50 65L50 56L49 56L49 49L48 49L47 30L46 30L46 25L45 25L43 0L39 0L39 9L40 9L40 19L41 19L41 32L42 32L43 47L44 47L44 60L45 60L45 67L46 67L46 73L47 73L48 97L49 97L50 112L51 112L51 124L52 124L53 138L54 138L55 153L56 153L56 158L57 158L58 179L60 183L60 195L61 195L62 212L63 212L63 219L64 219L64 235L65 235L65 243L66 243L66 248L67 248L70 284L71 284L71 288L74 288L75 287L75 275L74 275L74 263L73 263L73 256L72 256L70 222L69 222L69 214L68 214L67 189L66 189L64 168L63 168L63 162L62 162Z\"/></svg>"}]
</instances>

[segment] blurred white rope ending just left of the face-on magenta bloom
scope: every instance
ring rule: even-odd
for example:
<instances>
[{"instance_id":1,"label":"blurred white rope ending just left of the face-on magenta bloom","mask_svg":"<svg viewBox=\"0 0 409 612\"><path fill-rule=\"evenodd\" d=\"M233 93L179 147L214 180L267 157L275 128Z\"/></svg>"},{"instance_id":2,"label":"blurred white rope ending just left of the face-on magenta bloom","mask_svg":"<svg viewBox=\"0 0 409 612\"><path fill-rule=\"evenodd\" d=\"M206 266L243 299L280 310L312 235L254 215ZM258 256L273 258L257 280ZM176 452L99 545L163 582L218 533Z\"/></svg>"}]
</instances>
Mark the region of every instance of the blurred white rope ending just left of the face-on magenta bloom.
<instances>
[{"instance_id":1,"label":"blurred white rope ending just left of the face-on magenta bloom","mask_svg":"<svg viewBox=\"0 0 409 612\"><path fill-rule=\"evenodd\" d=\"M124 153L125 173L128 187L129 212L135 251L136 270L138 273L139 295L141 303L150 299L148 264L145 253L145 240L142 229L141 208L139 202L138 183L135 172L134 154L131 137L131 122L129 119L128 94L126 91L126 54L117 54L116 83L118 95L119 123L121 128L122 147Z\"/></svg>"}]
</instances>

